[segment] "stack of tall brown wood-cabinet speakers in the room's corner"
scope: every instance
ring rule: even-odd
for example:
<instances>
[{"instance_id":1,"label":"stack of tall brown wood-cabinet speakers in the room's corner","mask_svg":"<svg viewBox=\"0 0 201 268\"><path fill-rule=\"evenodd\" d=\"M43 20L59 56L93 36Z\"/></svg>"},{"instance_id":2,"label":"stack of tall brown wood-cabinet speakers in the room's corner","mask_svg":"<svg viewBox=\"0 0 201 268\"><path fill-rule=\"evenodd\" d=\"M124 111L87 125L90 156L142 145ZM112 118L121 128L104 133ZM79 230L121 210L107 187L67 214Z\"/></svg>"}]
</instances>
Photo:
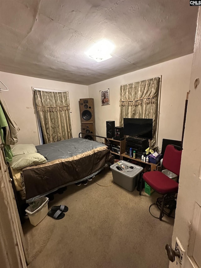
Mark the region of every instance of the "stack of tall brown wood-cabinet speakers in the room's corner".
<instances>
[{"instance_id":1,"label":"stack of tall brown wood-cabinet speakers in the room's corner","mask_svg":"<svg viewBox=\"0 0 201 268\"><path fill-rule=\"evenodd\" d=\"M95 140L94 99L79 99L82 138Z\"/></svg>"}]
</instances>

